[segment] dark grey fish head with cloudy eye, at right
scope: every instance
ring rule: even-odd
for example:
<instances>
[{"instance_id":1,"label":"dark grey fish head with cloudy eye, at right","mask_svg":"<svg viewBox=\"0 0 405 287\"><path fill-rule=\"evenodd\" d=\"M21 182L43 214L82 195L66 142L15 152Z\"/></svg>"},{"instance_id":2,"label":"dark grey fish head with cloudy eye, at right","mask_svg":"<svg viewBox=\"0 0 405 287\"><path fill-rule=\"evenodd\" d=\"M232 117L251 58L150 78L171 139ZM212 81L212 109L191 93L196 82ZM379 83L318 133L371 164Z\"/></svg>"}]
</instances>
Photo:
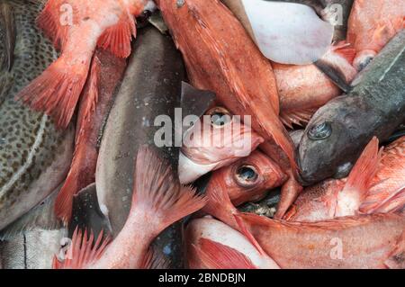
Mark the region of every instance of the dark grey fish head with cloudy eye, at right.
<instances>
[{"instance_id":1,"label":"dark grey fish head with cloudy eye, at right","mask_svg":"<svg viewBox=\"0 0 405 287\"><path fill-rule=\"evenodd\" d=\"M338 97L340 98L340 97ZM331 176L348 175L361 137L357 111L341 108L338 98L320 108L308 124L298 148L301 182L317 184ZM338 111L338 112L337 112Z\"/></svg>"}]
</instances>

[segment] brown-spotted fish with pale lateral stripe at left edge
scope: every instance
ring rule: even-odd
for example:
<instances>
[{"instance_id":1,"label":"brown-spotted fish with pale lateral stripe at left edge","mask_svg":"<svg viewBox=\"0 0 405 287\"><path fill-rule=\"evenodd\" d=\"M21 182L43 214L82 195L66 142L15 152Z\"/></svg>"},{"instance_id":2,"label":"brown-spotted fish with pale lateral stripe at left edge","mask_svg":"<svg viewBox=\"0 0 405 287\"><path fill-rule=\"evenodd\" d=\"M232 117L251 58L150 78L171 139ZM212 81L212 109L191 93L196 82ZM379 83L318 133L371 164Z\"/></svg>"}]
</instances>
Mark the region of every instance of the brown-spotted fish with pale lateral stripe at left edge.
<instances>
[{"instance_id":1,"label":"brown-spotted fish with pale lateral stripe at left edge","mask_svg":"<svg viewBox=\"0 0 405 287\"><path fill-rule=\"evenodd\" d=\"M0 229L31 210L61 183L70 165L74 136L72 129L55 130L48 116L14 102L14 95L39 76L57 54L36 28L39 2L2 4L13 6L16 38L13 67L10 71L3 68L0 74ZM5 51L3 44L4 39L0 40L0 55Z\"/></svg>"}]
</instances>

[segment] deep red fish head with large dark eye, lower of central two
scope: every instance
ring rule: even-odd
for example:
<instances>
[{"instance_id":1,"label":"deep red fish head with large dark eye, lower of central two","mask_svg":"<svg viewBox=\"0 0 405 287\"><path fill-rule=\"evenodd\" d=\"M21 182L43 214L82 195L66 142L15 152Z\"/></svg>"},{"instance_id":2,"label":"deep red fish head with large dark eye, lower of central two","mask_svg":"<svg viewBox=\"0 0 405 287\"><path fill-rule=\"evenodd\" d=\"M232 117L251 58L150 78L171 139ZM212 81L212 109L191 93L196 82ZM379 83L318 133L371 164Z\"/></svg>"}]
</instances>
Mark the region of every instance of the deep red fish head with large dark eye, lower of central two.
<instances>
[{"instance_id":1,"label":"deep red fish head with large dark eye, lower of central two","mask_svg":"<svg viewBox=\"0 0 405 287\"><path fill-rule=\"evenodd\" d=\"M284 180L285 175L280 167L258 150L211 175L211 181L219 181L236 206L245 202L257 202L268 190L283 184Z\"/></svg>"}]
</instances>

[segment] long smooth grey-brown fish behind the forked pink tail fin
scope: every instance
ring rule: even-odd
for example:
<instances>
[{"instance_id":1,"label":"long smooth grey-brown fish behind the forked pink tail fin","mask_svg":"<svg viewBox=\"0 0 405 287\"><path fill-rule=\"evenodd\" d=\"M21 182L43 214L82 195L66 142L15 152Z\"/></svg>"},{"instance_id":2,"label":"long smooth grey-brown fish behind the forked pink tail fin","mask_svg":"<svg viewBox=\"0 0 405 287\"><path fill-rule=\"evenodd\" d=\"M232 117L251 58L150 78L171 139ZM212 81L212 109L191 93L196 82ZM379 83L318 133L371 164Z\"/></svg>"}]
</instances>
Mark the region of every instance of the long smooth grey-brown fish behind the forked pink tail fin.
<instances>
[{"instance_id":1,"label":"long smooth grey-brown fish behind the forked pink tail fin","mask_svg":"<svg viewBox=\"0 0 405 287\"><path fill-rule=\"evenodd\" d=\"M98 202L111 222L113 237L120 232L130 212L134 158L141 145L155 146L155 133L160 129L154 126L155 118L158 115L174 118L175 107L180 106L184 74L181 54L168 36L154 27L139 30L103 131L95 173ZM177 170L179 148L158 151ZM175 225L156 241L162 243L159 248L165 246L170 250L170 259L176 266L182 260L177 254L179 247L173 244L180 238L179 232L179 226ZM167 240L162 240L164 237L170 239L168 246L164 243Z\"/></svg>"}]
</instances>

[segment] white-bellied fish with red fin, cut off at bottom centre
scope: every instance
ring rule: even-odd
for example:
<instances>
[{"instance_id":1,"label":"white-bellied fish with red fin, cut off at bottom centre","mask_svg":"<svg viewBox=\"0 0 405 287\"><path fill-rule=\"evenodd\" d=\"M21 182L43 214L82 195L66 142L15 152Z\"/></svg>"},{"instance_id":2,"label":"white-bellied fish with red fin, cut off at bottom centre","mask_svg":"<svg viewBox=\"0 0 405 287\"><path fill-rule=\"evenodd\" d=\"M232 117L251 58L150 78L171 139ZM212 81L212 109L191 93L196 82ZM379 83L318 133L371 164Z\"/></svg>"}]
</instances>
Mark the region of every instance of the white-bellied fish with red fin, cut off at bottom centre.
<instances>
[{"instance_id":1,"label":"white-bellied fish with red fin, cut off at bottom centre","mask_svg":"<svg viewBox=\"0 0 405 287\"><path fill-rule=\"evenodd\" d=\"M279 269L241 233L210 217L192 220L184 231L190 269Z\"/></svg>"}]
</instances>

